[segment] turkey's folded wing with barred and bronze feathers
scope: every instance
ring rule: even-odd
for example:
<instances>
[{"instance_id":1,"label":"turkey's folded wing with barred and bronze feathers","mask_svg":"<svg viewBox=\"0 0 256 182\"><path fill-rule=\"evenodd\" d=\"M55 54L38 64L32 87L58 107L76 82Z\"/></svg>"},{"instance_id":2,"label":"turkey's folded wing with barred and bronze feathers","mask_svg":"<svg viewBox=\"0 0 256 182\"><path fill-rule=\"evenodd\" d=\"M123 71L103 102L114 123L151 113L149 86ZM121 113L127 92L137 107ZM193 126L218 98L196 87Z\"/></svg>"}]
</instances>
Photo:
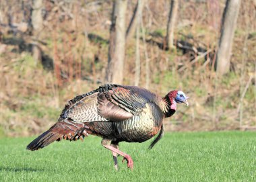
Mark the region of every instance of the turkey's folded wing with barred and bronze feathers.
<instances>
[{"instance_id":1,"label":"turkey's folded wing with barred and bronze feathers","mask_svg":"<svg viewBox=\"0 0 256 182\"><path fill-rule=\"evenodd\" d=\"M127 120L139 115L150 101L141 94L144 92L134 91L133 87L103 85L90 93L75 97L76 101L69 101L59 120L69 118L77 123Z\"/></svg>"}]
</instances>

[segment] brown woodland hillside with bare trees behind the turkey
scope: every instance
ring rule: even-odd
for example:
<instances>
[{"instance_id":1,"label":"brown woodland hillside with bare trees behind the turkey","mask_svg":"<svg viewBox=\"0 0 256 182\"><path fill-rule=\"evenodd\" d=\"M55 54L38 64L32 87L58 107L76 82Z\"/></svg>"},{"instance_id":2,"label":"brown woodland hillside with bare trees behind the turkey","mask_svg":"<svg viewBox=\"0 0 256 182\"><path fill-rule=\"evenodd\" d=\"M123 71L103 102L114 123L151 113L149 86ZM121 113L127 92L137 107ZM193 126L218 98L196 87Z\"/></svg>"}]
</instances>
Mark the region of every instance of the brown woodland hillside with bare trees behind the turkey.
<instances>
[{"instance_id":1,"label":"brown woodland hillside with bare trees behind the turkey","mask_svg":"<svg viewBox=\"0 0 256 182\"><path fill-rule=\"evenodd\" d=\"M255 19L253 0L1 0L0 137L48 129L108 82L183 90L190 105L164 120L169 131L255 130Z\"/></svg>"}]
</instances>

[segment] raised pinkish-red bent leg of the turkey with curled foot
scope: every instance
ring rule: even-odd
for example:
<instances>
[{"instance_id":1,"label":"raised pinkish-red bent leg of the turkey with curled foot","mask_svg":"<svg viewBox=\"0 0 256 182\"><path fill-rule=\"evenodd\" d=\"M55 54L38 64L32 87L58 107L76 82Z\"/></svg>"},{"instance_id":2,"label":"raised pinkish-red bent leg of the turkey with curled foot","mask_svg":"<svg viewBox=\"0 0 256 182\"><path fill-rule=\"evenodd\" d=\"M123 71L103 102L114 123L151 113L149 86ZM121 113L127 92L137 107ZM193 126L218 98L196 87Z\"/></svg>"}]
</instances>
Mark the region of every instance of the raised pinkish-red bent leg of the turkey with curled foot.
<instances>
[{"instance_id":1,"label":"raised pinkish-red bent leg of the turkey with curled foot","mask_svg":"<svg viewBox=\"0 0 256 182\"><path fill-rule=\"evenodd\" d=\"M111 146L111 140L103 139L101 144L102 146L104 146L105 148L113 152L114 162L115 162L115 158L117 158L117 156L114 156L114 154L115 153L119 154L123 156L123 158L127 161L127 167L129 167L131 170L133 169L133 159L131 158L131 156L129 156L129 154L125 154L121 150L115 148L114 146Z\"/></svg>"}]
</instances>

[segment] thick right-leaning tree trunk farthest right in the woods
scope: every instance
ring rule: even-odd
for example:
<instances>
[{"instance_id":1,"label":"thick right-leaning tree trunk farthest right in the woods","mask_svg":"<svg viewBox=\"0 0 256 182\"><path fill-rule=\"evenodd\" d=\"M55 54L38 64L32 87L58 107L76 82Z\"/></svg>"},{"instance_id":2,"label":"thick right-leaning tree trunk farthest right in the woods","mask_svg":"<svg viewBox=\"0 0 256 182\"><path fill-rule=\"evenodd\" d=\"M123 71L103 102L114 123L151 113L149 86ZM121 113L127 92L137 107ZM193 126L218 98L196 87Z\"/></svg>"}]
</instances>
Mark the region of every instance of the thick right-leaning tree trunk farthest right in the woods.
<instances>
[{"instance_id":1,"label":"thick right-leaning tree trunk farthest right in the woods","mask_svg":"<svg viewBox=\"0 0 256 182\"><path fill-rule=\"evenodd\" d=\"M228 73L230 69L230 56L232 52L232 42L236 20L240 8L241 0L227 0L222 17L221 36L217 53L217 72L220 75Z\"/></svg>"}]
</instances>

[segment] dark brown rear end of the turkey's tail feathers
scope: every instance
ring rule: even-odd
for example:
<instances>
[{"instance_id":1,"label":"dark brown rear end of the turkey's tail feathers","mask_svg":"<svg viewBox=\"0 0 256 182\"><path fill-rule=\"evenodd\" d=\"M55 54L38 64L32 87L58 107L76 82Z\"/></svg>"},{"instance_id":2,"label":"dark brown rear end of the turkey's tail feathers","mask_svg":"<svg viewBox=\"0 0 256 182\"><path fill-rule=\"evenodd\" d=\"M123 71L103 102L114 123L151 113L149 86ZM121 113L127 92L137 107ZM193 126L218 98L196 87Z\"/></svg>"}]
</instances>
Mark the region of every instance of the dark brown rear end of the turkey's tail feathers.
<instances>
[{"instance_id":1,"label":"dark brown rear end of the turkey's tail feathers","mask_svg":"<svg viewBox=\"0 0 256 182\"><path fill-rule=\"evenodd\" d=\"M55 140L58 140L61 138L61 134L58 134L56 132L52 132L51 130L48 130L38 136L35 140L33 140L30 144L28 144L27 149L28 150L38 150L40 148L44 148L44 146L47 146L54 142Z\"/></svg>"}]
</instances>

